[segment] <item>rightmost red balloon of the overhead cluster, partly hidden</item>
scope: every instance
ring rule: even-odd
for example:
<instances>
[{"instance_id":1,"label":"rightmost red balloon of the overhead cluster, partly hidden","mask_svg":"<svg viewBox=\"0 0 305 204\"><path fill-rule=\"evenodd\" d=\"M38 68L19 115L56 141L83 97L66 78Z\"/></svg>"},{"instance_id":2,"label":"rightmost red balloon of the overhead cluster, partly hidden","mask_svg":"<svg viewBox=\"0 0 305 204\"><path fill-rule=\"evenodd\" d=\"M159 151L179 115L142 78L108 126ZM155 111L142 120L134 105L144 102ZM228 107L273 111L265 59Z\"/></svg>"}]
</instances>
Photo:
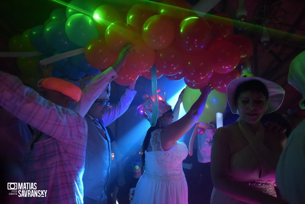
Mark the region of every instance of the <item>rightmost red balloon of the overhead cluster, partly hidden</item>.
<instances>
[{"instance_id":1,"label":"rightmost red balloon of the overhead cluster, partly hidden","mask_svg":"<svg viewBox=\"0 0 305 204\"><path fill-rule=\"evenodd\" d=\"M228 40L231 43L234 43L237 46L237 49L240 53L239 64L247 61L253 54L253 43L250 38L245 35L233 35Z\"/></svg>"}]
</instances>

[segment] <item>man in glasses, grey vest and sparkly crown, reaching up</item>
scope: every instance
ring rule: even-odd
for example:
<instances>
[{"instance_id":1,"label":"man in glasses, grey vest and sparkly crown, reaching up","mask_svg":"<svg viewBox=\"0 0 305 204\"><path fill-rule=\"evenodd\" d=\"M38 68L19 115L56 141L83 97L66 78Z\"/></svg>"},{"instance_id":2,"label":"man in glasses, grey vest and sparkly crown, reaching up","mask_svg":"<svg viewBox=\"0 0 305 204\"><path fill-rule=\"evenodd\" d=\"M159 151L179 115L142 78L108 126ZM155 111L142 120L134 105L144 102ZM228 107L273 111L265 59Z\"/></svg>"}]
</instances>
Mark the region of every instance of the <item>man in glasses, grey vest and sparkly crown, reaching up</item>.
<instances>
[{"instance_id":1,"label":"man in glasses, grey vest and sparkly crown, reaching up","mask_svg":"<svg viewBox=\"0 0 305 204\"><path fill-rule=\"evenodd\" d=\"M110 83L97 97L85 115L88 123L84 183L84 204L107 203L106 184L111 164L110 138L106 126L120 117L129 107L137 93L135 82L129 85L120 102L111 109L109 103Z\"/></svg>"}]
</instances>

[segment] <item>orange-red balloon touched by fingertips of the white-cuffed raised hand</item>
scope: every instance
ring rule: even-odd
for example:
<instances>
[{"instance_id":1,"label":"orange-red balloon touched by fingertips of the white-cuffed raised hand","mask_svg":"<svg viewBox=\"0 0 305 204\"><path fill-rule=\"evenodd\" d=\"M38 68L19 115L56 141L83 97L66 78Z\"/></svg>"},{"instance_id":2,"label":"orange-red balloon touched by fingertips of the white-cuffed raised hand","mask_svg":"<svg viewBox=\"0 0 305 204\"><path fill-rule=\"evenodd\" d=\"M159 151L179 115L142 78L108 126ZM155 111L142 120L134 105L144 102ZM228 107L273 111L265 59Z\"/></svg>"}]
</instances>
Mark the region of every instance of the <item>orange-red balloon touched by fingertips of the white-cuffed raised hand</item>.
<instances>
[{"instance_id":1,"label":"orange-red balloon touched by fingertips of the white-cuffed raised hand","mask_svg":"<svg viewBox=\"0 0 305 204\"><path fill-rule=\"evenodd\" d=\"M155 50L150 48L142 39L133 41L129 50L135 52L128 55L125 65L135 72L147 72L155 62Z\"/></svg>"}]
</instances>

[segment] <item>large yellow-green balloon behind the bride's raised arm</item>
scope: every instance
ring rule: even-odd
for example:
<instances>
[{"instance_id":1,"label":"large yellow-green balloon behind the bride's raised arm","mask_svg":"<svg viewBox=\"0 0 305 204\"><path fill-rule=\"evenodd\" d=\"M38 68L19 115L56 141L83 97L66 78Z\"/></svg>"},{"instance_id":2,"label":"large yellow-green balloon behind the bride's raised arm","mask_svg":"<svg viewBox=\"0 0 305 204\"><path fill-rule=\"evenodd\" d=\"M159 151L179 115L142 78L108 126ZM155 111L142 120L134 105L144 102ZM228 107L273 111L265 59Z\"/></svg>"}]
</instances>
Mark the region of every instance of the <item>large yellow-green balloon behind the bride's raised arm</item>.
<instances>
[{"instance_id":1,"label":"large yellow-green balloon behind the bride's raised arm","mask_svg":"<svg viewBox=\"0 0 305 204\"><path fill-rule=\"evenodd\" d=\"M182 104L185 112L188 112L194 102L200 96L199 89L186 87L183 92ZM227 95L216 90L211 91L206 99L204 110L198 119L198 122L208 123L216 120L216 113L224 113L227 107Z\"/></svg>"}]
</instances>

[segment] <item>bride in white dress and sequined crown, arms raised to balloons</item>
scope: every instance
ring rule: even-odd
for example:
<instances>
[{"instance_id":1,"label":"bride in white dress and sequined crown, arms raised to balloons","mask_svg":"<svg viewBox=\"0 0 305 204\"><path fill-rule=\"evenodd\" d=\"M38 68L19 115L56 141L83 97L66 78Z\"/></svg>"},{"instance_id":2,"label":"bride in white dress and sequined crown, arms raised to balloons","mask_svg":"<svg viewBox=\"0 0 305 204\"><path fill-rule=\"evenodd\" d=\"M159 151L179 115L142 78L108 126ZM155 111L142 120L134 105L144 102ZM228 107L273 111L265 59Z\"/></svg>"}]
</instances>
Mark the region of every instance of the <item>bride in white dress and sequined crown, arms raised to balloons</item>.
<instances>
[{"instance_id":1,"label":"bride in white dress and sequined crown, arms raised to balloons","mask_svg":"<svg viewBox=\"0 0 305 204\"><path fill-rule=\"evenodd\" d=\"M201 88L197 101L175 122L171 106L162 99L158 100L157 124L148 129L142 145L145 172L137 183L133 204L188 203L188 187L182 170L182 161L188 155L188 148L178 139L197 122L212 90L210 85ZM137 113L139 117L151 120L150 97L138 107Z\"/></svg>"}]
</instances>

